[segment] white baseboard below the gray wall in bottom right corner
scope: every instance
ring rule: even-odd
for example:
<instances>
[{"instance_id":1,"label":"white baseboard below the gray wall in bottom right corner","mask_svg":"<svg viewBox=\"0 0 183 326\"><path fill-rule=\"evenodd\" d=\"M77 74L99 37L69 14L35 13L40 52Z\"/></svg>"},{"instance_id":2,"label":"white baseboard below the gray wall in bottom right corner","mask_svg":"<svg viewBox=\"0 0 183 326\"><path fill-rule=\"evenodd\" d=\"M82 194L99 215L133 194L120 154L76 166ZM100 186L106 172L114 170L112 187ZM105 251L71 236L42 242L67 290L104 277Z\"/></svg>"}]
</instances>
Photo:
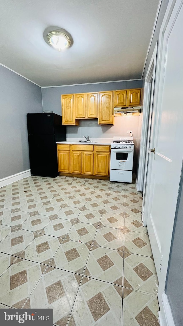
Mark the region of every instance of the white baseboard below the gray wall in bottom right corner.
<instances>
[{"instance_id":1,"label":"white baseboard below the gray wall in bottom right corner","mask_svg":"<svg viewBox=\"0 0 183 326\"><path fill-rule=\"evenodd\" d=\"M172 310L165 292L162 294L162 307L159 311L160 326L175 326Z\"/></svg>"}]
</instances>

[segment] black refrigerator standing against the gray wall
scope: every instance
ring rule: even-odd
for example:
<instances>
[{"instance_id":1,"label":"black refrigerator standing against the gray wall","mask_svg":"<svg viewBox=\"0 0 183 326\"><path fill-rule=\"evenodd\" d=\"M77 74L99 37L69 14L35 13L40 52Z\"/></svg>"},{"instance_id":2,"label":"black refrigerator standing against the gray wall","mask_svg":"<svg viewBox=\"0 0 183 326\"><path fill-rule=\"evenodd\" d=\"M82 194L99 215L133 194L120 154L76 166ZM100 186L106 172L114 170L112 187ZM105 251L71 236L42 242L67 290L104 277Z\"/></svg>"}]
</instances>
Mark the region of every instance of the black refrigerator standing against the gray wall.
<instances>
[{"instance_id":1,"label":"black refrigerator standing against the gray wall","mask_svg":"<svg viewBox=\"0 0 183 326\"><path fill-rule=\"evenodd\" d=\"M56 177L58 173L56 141L66 141L66 127L61 115L27 113L31 173Z\"/></svg>"}]
</instances>

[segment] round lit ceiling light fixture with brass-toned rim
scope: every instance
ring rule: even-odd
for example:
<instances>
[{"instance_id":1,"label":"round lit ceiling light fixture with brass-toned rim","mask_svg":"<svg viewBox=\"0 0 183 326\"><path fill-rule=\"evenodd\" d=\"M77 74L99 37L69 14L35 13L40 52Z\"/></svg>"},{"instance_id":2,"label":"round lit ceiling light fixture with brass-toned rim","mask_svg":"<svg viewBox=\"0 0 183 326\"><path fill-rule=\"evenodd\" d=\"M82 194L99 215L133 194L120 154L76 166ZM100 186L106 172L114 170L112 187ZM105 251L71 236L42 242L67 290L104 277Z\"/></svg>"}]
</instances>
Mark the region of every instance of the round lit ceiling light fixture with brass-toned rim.
<instances>
[{"instance_id":1,"label":"round lit ceiling light fixture with brass-toned rim","mask_svg":"<svg viewBox=\"0 0 183 326\"><path fill-rule=\"evenodd\" d=\"M62 31L51 31L47 35L49 44L58 51L63 51L71 46L71 38Z\"/></svg>"}]
</instances>

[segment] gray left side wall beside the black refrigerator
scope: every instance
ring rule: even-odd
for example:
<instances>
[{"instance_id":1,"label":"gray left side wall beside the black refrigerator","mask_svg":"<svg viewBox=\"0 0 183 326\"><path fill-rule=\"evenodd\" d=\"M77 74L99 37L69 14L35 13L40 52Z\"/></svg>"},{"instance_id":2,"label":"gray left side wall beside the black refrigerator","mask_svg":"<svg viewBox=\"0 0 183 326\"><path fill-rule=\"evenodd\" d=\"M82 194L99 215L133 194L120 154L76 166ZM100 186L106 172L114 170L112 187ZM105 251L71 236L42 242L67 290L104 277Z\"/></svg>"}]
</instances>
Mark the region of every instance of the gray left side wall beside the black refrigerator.
<instances>
[{"instance_id":1,"label":"gray left side wall beside the black refrigerator","mask_svg":"<svg viewBox=\"0 0 183 326\"><path fill-rule=\"evenodd\" d=\"M0 66L0 179L30 169L26 114L37 112L41 88Z\"/></svg>"}]
</instances>

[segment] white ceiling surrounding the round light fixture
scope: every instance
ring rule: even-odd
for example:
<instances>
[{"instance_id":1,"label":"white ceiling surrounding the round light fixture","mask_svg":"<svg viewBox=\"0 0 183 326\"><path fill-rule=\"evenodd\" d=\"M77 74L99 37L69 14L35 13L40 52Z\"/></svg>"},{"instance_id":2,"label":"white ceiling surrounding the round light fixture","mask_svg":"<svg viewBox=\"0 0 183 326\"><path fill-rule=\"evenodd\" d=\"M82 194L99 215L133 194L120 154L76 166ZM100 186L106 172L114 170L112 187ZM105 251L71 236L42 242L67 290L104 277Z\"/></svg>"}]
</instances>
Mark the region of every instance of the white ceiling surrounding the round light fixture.
<instances>
[{"instance_id":1,"label":"white ceiling surrounding the round light fixture","mask_svg":"<svg viewBox=\"0 0 183 326\"><path fill-rule=\"evenodd\" d=\"M141 78L159 0L1 0L0 63L41 86ZM73 46L52 49L49 26Z\"/></svg>"}]
</instances>

